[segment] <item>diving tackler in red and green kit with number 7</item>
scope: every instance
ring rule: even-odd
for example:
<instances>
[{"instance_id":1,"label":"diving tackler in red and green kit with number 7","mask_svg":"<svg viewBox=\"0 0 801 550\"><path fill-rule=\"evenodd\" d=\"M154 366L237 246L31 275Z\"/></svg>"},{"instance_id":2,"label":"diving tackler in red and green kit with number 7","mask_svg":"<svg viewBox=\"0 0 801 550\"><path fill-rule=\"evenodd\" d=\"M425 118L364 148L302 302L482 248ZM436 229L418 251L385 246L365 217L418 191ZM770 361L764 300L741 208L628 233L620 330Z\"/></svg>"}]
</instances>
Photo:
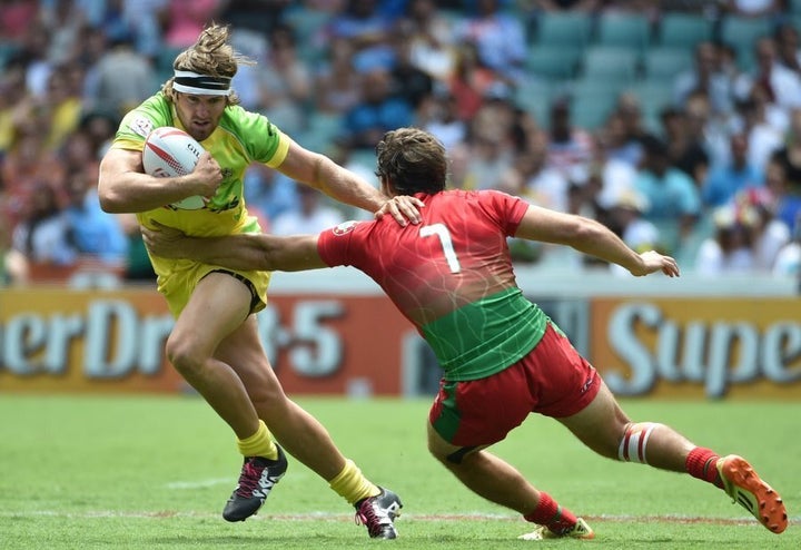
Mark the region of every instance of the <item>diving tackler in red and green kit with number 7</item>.
<instances>
[{"instance_id":1,"label":"diving tackler in red and green kit with number 7","mask_svg":"<svg viewBox=\"0 0 801 550\"><path fill-rule=\"evenodd\" d=\"M720 456L665 424L634 422L600 374L517 286L508 237L571 246L634 276L679 276L676 262L637 254L602 224L501 191L446 190L447 157L431 134L400 128L376 146L389 196L423 200L418 225L349 222L319 235L186 237L145 229L152 254L233 269L350 265L375 279L434 350L444 373L428 449L481 497L538 527L523 538L591 539L592 528L487 448L530 413L552 416L603 456L685 472L723 489L767 529L788 524L779 494L741 456Z\"/></svg>"}]
</instances>

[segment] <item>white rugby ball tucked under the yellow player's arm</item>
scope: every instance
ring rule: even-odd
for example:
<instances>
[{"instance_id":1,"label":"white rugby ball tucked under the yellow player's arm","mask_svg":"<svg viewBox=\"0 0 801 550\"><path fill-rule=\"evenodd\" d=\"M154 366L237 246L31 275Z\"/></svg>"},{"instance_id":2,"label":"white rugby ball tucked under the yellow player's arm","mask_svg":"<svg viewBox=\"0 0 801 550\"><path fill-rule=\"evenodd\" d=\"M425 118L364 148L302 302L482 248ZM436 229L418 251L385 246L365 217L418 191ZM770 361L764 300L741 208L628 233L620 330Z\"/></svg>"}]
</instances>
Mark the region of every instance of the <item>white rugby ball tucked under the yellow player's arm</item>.
<instances>
[{"instance_id":1,"label":"white rugby ball tucked under the yellow player's arm","mask_svg":"<svg viewBox=\"0 0 801 550\"><path fill-rule=\"evenodd\" d=\"M142 165L146 173L159 178L185 176L195 169L202 151L202 146L186 131L162 126L152 130L145 140ZM206 198L196 195L170 206L182 210L198 210L206 206Z\"/></svg>"}]
</instances>

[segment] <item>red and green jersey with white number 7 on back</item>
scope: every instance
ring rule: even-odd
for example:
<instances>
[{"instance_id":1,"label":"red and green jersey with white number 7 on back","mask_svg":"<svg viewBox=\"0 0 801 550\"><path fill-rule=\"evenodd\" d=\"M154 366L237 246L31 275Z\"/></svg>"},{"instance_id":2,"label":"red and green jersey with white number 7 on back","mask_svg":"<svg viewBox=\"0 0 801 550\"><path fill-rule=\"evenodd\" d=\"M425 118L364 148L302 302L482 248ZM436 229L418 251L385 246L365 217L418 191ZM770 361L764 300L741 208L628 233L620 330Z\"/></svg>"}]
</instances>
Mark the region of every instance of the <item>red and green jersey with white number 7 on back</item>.
<instances>
[{"instance_id":1,"label":"red and green jersey with white number 7 on back","mask_svg":"<svg viewBox=\"0 0 801 550\"><path fill-rule=\"evenodd\" d=\"M432 346L445 380L500 372L540 342L547 323L517 287L506 245L528 204L494 190L417 197L419 225L348 222L320 234L319 255L378 283Z\"/></svg>"}]
</instances>

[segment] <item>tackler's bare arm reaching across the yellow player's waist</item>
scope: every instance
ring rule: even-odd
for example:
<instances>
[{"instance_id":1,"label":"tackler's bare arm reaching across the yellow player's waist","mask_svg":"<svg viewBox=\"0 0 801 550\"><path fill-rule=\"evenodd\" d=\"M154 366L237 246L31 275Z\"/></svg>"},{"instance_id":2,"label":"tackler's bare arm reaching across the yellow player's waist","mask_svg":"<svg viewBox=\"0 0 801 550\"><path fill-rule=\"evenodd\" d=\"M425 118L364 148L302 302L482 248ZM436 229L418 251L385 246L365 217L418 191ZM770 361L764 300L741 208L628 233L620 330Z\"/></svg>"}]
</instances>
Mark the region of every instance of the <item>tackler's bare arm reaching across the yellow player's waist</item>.
<instances>
[{"instance_id":1,"label":"tackler's bare arm reaching across the yellow player's waist","mask_svg":"<svg viewBox=\"0 0 801 550\"><path fill-rule=\"evenodd\" d=\"M229 269L297 272L328 267L317 253L317 235L277 237L243 234L226 237L188 237L159 224L141 228L145 244L155 256L187 258Z\"/></svg>"}]
</instances>

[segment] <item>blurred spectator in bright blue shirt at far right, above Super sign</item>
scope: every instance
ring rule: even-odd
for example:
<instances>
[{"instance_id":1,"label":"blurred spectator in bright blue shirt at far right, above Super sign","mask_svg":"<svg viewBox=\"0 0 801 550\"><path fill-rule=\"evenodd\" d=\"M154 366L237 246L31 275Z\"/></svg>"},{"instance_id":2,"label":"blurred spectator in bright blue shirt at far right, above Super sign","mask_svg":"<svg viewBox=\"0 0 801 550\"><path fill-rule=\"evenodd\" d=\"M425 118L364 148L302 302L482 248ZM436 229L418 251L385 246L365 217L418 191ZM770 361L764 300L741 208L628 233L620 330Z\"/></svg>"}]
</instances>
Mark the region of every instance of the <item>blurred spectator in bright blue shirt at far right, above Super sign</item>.
<instances>
[{"instance_id":1,"label":"blurred spectator in bright blue shirt at far right, above Super sign","mask_svg":"<svg viewBox=\"0 0 801 550\"><path fill-rule=\"evenodd\" d=\"M749 163L746 136L735 134L731 137L731 161L710 173L701 196L705 206L718 207L732 200L741 190L762 184L762 171Z\"/></svg>"}]
</instances>

